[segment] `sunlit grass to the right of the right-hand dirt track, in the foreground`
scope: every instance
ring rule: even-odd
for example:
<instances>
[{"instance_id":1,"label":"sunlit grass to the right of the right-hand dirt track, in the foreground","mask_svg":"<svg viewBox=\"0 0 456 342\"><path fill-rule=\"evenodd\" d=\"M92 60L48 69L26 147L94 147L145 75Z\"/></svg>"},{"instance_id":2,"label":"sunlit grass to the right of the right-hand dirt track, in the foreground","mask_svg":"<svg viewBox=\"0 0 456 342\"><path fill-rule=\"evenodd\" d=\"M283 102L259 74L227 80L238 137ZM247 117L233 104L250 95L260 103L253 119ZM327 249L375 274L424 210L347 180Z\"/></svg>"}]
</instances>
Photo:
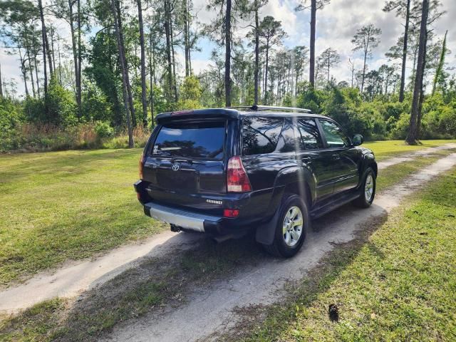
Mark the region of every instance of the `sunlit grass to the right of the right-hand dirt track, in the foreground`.
<instances>
[{"instance_id":1,"label":"sunlit grass to the right of the right-hand dirt track, in the foreground","mask_svg":"<svg viewBox=\"0 0 456 342\"><path fill-rule=\"evenodd\" d=\"M456 169L340 244L229 341L456 341ZM331 321L328 306L338 306Z\"/></svg>"}]
</instances>

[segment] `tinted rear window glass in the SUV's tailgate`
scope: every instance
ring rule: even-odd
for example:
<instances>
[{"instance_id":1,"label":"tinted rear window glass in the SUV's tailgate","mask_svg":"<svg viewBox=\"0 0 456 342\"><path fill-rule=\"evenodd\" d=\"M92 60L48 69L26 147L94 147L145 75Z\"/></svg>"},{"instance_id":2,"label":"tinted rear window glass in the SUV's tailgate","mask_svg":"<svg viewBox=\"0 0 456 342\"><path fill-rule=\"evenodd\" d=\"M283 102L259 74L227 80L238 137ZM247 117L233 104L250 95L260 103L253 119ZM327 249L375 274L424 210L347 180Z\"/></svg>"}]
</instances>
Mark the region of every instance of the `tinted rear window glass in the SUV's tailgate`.
<instances>
[{"instance_id":1,"label":"tinted rear window glass in the SUV's tailgate","mask_svg":"<svg viewBox=\"0 0 456 342\"><path fill-rule=\"evenodd\" d=\"M162 125L152 155L222 160L225 123L168 123Z\"/></svg>"}]
</instances>

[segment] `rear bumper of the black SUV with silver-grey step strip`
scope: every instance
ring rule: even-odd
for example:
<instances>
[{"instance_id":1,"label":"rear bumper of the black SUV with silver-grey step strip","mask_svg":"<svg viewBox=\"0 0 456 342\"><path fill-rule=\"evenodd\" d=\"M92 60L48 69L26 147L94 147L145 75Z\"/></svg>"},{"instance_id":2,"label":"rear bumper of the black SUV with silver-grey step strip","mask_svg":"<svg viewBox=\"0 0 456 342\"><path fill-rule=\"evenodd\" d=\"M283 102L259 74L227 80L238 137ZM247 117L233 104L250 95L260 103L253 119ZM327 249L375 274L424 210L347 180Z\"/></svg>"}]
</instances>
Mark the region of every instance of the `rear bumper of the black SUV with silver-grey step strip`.
<instances>
[{"instance_id":1,"label":"rear bumper of the black SUV with silver-grey step strip","mask_svg":"<svg viewBox=\"0 0 456 342\"><path fill-rule=\"evenodd\" d=\"M175 224L182 229L194 230L195 232L219 232L222 227L223 217L208 216L182 209L166 207L165 205L148 202L144 204L144 212L147 216L159 221Z\"/></svg>"}]
</instances>

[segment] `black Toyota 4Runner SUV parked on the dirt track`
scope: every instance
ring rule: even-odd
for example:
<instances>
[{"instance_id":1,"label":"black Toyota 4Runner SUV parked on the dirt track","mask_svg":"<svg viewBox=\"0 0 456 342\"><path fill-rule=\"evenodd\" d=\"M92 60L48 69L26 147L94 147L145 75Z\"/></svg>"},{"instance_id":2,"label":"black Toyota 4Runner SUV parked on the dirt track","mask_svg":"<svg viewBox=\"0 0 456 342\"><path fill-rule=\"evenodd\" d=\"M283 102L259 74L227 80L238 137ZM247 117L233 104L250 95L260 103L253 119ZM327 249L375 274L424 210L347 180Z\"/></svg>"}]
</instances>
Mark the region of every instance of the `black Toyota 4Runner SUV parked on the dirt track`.
<instances>
[{"instance_id":1,"label":"black Toyota 4Runner SUV parked on the dirt track","mask_svg":"<svg viewBox=\"0 0 456 342\"><path fill-rule=\"evenodd\" d=\"M135 190L145 214L174 232L225 239L254 228L268 252L291 257L311 218L372 204L377 163L362 142L300 108L162 113Z\"/></svg>"}]
</instances>

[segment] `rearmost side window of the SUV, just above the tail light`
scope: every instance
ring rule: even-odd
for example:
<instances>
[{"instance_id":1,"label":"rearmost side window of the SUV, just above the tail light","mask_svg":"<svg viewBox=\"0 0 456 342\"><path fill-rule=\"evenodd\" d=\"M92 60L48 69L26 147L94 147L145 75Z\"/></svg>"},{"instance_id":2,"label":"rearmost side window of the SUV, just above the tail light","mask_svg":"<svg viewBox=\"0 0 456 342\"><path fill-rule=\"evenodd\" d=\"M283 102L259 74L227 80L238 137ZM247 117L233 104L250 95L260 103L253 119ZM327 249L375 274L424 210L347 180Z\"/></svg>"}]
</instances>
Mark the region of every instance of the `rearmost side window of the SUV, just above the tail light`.
<instances>
[{"instance_id":1,"label":"rearmost side window of the SUV, just above the tail light","mask_svg":"<svg viewBox=\"0 0 456 342\"><path fill-rule=\"evenodd\" d=\"M244 118L242 154L261 155L274 152L283 125L283 118Z\"/></svg>"}]
</instances>

